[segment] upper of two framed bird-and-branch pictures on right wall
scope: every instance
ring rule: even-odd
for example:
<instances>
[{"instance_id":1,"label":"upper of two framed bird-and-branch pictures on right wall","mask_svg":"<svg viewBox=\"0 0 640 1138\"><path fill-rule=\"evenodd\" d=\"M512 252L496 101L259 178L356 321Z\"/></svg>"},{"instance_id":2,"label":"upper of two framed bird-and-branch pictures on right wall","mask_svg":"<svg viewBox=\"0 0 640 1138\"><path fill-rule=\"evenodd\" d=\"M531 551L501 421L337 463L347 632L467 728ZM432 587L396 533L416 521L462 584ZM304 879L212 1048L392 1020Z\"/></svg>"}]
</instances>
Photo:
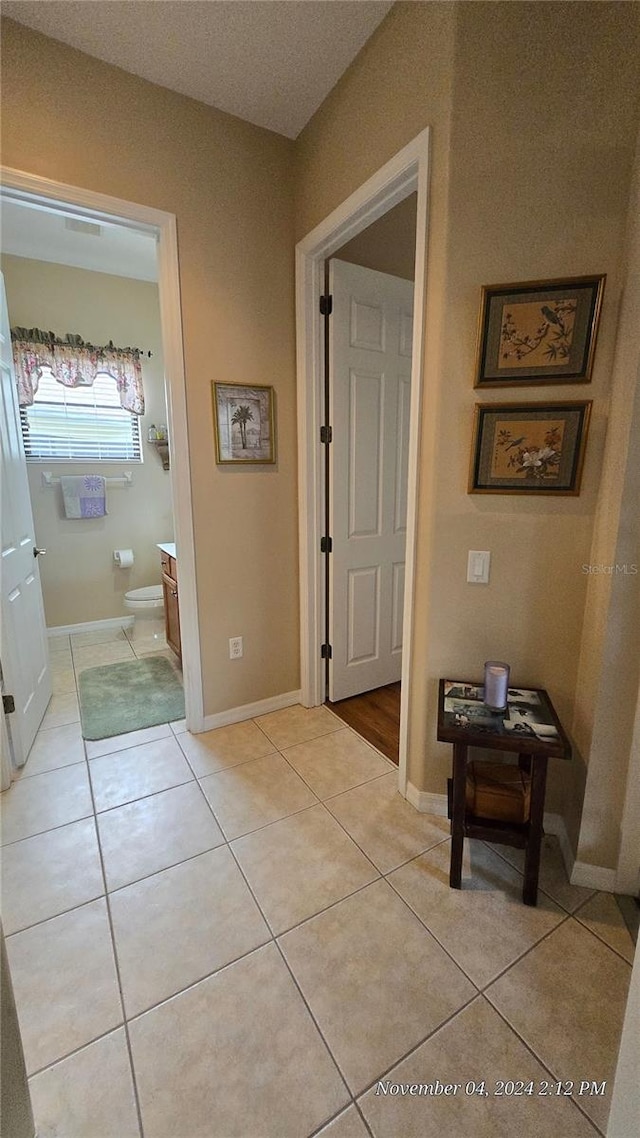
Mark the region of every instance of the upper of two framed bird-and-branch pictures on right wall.
<instances>
[{"instance_id":1,"label":"upper of two framed bird-and-branch pictures on right wall","mask_svg":"<svg viewBox=\"0 0 640 1138\"><path fill-rule=\"evenodd\" d=\"M589 384L605 280L485 286L475 387Z\"/></svg>"}]
</instances>

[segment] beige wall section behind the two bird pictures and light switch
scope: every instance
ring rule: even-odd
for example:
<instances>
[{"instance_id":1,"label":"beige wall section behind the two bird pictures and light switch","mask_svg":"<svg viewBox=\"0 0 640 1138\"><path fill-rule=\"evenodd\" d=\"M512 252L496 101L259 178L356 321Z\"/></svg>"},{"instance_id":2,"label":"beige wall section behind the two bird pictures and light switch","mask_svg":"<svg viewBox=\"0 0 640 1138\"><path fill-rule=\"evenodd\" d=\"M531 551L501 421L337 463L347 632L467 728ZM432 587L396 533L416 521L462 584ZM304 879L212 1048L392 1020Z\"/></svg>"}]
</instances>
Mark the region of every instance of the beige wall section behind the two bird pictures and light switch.
<instances>
[{"instance_id":1,"label":"beige wall section behind the two bird pictures and light switch","mask_svg":"<svg viewBox=\"0 0 640 1138\"><path fill-rule=\"evenodd\" d=\"M516 677L550 691L569 729L638 122L640 13L625 7L463 3L457 35L445 305L457 335L440 376L448 397L435 454L428 673L509 660ZM594 272L607 273L607 287L592 382L481 396L593 399L580 497L467 495L479 286ZM479 599L463 584L467 549L492 551ZM551 809L564 808L563 784L586 758L575 748L573 770L551 762Z\"/></svg>"}]
</instances>

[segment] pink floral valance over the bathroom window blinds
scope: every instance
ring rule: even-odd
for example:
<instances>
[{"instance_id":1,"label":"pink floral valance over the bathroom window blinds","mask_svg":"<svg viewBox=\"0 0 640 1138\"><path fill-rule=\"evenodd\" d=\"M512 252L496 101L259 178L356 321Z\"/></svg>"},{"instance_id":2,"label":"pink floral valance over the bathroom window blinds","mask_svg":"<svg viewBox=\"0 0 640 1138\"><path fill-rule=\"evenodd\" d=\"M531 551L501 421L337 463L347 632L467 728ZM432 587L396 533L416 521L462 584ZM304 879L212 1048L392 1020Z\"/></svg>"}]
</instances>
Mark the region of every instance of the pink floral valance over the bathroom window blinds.
<instances>
[{"instance_id":1,"label":"pink floral valance over the bathroom window blinds","mask_svg":"<svg viewBox=\"0 0 640 1138\"><path fill-rule=\"evenodd\" d=\"M91 387L99 372L108 372L125 411L134 415L145 413L139 348L116 348L110 341L96 347L80 336L68 333L58 339L54 332L42 332L39 328L11 328L11 341L20 407L33 404L44 366L51 369L64 387Z\"/></svg>"}]
</instances>

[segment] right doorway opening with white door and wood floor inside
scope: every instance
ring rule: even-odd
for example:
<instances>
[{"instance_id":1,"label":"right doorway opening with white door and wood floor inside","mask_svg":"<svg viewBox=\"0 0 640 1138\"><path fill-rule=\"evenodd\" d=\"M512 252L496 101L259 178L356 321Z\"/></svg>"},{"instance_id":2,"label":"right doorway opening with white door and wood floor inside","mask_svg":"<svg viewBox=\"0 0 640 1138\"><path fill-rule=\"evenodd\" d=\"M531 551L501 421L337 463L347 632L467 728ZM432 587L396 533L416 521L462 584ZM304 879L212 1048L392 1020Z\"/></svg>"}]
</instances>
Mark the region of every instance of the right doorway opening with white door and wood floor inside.
<instances>
[{"instance_id":1,"label":"right doorway opening with white door and wood floor inside","mask_svg":"<svg viewBox=\"0 0 640 1138\"><path fill-rule=\"evenodd\" d=\"M417 195L327 263L328 706L397 766Z\"/></svg>"}]
</instances>

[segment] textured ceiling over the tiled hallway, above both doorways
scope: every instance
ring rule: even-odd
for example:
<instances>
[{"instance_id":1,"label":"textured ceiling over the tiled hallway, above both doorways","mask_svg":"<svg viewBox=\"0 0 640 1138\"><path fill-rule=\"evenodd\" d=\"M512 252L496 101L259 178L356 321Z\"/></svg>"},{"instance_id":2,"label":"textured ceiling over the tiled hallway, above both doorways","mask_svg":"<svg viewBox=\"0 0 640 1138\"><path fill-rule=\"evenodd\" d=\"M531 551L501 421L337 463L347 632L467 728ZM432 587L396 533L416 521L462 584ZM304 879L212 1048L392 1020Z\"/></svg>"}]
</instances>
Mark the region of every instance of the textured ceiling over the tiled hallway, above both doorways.
<instances>
[{"instance_id":1,"label":"textured ceiling over the tiled hallway, above both doorways","mask_svg":"<svg viewBox=\"0 0 640 1138\"><path fill-rule=\"evenodd\" d=\"M2 14L296 138L385 17L381 0L2 0Z\"/></svg>"}]
</instances>

